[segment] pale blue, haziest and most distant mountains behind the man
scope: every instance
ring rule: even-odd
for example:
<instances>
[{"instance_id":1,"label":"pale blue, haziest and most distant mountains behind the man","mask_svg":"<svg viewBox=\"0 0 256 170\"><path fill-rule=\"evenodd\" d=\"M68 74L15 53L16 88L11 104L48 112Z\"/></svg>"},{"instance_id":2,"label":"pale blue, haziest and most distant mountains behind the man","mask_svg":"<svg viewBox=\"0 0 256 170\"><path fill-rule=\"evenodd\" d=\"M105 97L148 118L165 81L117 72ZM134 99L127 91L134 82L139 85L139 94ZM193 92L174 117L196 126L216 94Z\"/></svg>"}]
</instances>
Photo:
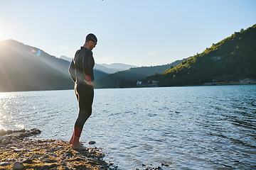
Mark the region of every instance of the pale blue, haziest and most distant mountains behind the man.
<instances>
[{"instance_id":1,"label":"pale blue, haziest and most distant mountains behind the man","mask_svg":"<svg viewBox=\"0 0 256 170\"><path fill-rule=\"evenodd\" d=\"M71 62L72 60L70 57L66 57L64 55L60 56L60 59L67 60L68 62ZM114 72L123 71L131 67L137 67L137 66L122 64L122 63L113 63L113 64L96 64L95 63L94 69L100 70L107 74L112 74Z\"/></svg>"}]
</instances>

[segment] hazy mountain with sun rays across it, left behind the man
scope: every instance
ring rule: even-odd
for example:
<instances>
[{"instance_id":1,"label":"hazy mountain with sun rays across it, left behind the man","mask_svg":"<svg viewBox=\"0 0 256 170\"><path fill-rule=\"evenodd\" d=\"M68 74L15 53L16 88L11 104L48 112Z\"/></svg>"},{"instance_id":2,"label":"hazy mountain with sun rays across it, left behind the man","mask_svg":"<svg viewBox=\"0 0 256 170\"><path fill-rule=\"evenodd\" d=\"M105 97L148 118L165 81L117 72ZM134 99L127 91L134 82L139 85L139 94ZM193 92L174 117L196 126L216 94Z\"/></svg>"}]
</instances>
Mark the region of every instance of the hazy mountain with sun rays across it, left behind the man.
<instances>
[{"instance_id":1,"label":"hazy mountain with sun rays across it, left behind the man","mask_svg":"<svg viewBox=\"0 0 256 170\"><path fill-rule=\"evenodd\" d=\"M73 89L70 62L16 40L0 42L0 91ZM95 70L95 79L105 76Z\"/></svg>"}]
</instances>

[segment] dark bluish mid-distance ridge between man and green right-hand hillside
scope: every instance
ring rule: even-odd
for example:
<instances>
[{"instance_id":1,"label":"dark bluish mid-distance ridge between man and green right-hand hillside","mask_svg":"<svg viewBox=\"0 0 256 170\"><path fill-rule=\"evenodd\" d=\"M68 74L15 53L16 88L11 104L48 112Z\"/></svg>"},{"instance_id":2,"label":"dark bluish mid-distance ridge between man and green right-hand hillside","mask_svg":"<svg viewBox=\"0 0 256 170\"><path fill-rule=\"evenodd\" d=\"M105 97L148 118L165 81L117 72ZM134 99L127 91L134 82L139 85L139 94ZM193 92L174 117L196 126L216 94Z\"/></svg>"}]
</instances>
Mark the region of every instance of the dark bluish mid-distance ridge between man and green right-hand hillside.
<instances>
[{"instance_id":1,"label":"dark bluish mid-distance ridge between man and green right-hand hillside","mask_svg":"<svg viewBox=\"0 0 256 170\"><path fill-rule=\"evenodd\" d=\"M180 64L183 60L177 60L176 62L172 62L171 64L165 64L161 66L136 67L121 72L108 74L105 77L95 79L95 88L117 88L119 87L119 82L122 80L136 81L140 79L145 79L146 77L149 77L152 74L164 72L166 69L169 69L170 67L174 67L177 64Z\"/></svg>"}]
</instances>

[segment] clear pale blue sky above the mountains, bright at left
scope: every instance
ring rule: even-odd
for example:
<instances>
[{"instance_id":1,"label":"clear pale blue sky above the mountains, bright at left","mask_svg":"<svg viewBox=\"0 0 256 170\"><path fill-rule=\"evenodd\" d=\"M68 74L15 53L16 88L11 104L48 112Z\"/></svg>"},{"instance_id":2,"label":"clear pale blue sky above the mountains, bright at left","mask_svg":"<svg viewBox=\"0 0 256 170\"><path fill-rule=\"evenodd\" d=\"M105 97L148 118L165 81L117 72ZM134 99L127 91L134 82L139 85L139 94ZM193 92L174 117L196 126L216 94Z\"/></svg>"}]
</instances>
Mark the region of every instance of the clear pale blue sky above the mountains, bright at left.
<instances>
[{"instance_id":1,"label":"clear pale blue sky above the mountains, bright at left","mask_svg":"<svg viewBox=\"0 0 256 170\"><path fill-rule=\"evenodd\" d=\"M0 0L0 41L73 57L88 33L95 62L168 64L256 23L255 0Z\"/></svg>"}]
</instances>

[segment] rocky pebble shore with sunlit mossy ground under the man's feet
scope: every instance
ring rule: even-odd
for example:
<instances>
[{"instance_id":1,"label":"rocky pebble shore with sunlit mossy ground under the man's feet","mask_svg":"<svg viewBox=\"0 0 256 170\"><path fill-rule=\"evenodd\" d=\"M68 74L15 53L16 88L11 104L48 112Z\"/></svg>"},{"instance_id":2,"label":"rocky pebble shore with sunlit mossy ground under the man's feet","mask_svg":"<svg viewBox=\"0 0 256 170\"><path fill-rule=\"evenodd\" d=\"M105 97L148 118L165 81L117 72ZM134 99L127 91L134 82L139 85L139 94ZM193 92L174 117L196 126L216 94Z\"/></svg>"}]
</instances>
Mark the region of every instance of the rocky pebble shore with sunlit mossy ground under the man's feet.
<instances>
[{"instance_id":1,"label":"rocky pebble shore with sunlit mossy ground under the man's feet","mask_svg":"<svg viewBox=\"0 0 256 170\"><path fill-rule=\"evenodd\" d=\"M97 147L71 148L63 140L34 140L41 130L0 130L2 169L117 169Z\"/></svg>"}]
</instances>

